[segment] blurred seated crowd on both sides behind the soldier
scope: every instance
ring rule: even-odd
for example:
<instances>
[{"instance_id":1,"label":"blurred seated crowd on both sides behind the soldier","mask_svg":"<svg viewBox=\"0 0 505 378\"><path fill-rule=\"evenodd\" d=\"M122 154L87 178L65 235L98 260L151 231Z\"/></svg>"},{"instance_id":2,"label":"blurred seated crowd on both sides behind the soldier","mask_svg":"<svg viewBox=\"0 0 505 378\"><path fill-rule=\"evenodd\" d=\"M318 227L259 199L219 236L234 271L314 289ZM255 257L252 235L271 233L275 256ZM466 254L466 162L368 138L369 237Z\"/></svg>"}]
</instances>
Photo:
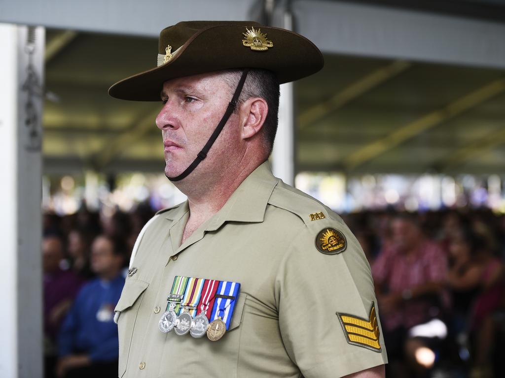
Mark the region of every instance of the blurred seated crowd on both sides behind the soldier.
<instances>
[{"instance_id":1,"label":"blurred seated crowd on both sides behind the soldier","mask_svg":"<svg viewBox=\"0 0 505 378\"><path fill-rule=\"evenodd\" d=\"M44 215L46 377L117 376L113 322L131 250L154 215ZM386 376L505 376L505 216L489 210L347 214L369 260Z\"/></svg>"}]
</instances>

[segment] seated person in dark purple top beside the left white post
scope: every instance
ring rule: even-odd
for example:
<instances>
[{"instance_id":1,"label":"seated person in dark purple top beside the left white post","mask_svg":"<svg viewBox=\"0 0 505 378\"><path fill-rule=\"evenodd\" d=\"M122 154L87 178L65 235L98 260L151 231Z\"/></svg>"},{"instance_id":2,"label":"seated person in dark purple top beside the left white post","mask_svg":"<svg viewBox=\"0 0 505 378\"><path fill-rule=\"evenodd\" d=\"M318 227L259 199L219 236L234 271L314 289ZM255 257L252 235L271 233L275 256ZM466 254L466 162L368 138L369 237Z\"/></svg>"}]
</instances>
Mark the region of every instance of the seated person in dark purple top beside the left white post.
<instances>
[{"instance_id":1,"label":"seated person in dark purple top beside the left white post","mask_svg":"<svg viewBox=\"0 0 505 378\"><path fill-rule=\"evenodd\" d=\"M63 270L63 243L59 236L48 235L42 240L44 273L44 364L46 378L53 376L58 356L57 336L83 281L73 272Z\"/></svg>"}]
</instances>

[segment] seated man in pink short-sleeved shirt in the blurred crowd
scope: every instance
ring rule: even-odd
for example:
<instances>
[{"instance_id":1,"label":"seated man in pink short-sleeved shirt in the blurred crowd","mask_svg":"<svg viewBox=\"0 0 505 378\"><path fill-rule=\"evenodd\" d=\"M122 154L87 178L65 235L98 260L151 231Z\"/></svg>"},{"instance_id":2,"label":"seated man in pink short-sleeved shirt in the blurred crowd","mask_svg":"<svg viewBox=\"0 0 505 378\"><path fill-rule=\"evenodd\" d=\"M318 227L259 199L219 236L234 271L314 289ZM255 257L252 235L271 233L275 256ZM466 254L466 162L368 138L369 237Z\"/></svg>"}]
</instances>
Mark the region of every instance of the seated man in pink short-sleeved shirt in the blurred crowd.
<instances>
[{"instance_id":1,"label":"seated man in pink short-sleeved shirt in the blurred crowd","mask_svg":"<svg viewBox=\"0 0 505 378\"><path fill-rule=\"evenodd\" d=\"M409 338L412 327L437 316L447 275L445 254L438 244L427 240L416 219L395 217L391 223L391 243L376 259L372 274L388 352L387 376L425 375L415 358L424 343Z\"/></svg>"}]
</instances>

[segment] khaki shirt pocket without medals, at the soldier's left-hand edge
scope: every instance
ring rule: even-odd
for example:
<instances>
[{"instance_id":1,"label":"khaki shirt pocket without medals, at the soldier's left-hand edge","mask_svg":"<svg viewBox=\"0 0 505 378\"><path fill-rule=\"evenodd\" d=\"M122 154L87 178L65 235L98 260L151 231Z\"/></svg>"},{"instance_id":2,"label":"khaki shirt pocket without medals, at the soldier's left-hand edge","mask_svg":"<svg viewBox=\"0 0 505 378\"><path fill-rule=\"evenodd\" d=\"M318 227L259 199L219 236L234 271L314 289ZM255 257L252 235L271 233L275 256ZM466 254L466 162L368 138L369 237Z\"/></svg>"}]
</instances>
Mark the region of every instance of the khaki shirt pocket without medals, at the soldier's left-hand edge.
<instances>
[{"instance_id":1,"label":"khaki shirt pocket without medals, at the soldier's left-hand edge","mask_svg":"<svg viewBox=\"0 0 505 378\"><path fill-rule=\"evenodd\" d=\"M142 302L143 293L149 284L144 281L128 278L123 287L115 312L119 312L119 367L118 374L123 376L126 371L126 362L130 353L131 338L135 327L138 309Z\"/></svg>"}]
</instances>

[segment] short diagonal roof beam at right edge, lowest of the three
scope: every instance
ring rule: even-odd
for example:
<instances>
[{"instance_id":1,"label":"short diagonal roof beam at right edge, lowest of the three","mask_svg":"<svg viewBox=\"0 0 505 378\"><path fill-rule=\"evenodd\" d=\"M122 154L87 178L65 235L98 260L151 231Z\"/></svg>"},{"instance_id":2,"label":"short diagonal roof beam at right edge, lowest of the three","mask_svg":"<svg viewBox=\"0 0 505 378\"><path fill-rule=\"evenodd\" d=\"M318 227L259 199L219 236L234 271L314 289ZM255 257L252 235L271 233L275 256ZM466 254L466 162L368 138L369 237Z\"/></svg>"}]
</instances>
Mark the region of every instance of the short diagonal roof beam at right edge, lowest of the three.
<instances>
[{"instance_id":1,"label":"short diagonal roof beam at right edge, lowest of the three","mask_svg":"<svg viewBox=\"0 0 505 378\"><path fill-rule=\"evenodd\" d=\"M452 152L450 156L439 165L441 167L440 171L458 167L502 144L505 144L505 128L499 128L497 131L489 133L485 137Z\"/></svg>"}]
</instances>

